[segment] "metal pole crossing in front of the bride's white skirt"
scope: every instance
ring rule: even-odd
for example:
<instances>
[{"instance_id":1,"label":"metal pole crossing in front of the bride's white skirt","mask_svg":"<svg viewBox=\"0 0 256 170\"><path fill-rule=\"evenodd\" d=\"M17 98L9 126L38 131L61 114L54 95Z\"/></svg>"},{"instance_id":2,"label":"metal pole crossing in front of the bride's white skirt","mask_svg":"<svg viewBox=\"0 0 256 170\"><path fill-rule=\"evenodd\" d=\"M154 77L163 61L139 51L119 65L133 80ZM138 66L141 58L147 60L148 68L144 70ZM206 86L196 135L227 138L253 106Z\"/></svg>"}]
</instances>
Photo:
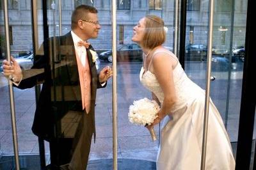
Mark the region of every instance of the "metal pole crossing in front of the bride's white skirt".
<instances>
[{"instance_id":1,"label":"metal pole crossing in front of the bride's white skirt","mask_svg":"<svg viewBox=\"0 0 256 170\"><path fill-rule=\"evenodd\" d=\"M213 14L214 14L214 0L209 3L209 31L208 31L208 54L207 54L207 77L206 77L206 91L205 91L205 107L204 107L204 129L202 142L202 157L201 170L205 169L207 132L208 132L208 118L209 118L209 98L211 87L211 61L212 61L212 30L213 30Z\"/></svg>"}]
</instances>

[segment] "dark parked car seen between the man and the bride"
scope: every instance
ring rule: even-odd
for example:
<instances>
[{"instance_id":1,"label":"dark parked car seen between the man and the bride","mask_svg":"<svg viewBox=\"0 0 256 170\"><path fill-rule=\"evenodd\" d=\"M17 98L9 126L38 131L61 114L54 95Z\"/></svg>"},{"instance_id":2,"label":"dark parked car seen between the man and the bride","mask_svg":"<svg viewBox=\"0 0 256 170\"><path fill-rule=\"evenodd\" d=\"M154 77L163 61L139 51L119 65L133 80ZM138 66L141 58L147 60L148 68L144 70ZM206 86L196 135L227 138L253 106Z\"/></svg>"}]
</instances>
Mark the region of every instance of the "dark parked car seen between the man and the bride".
<instances>
[{"instance_id":1,"label":"dark parked car seen between the man and the bride","mask_svg":"<svg viewBox=\"0 0 256 170\"><path fill-rule=\"evenodd\" d=\"M164 46L166 47L166 46ZM168 50L172 50L171 47L166 47ZM136 43L128 43L121 45L116 49L116 60L118 62L127 61L142 61L142 49ZM99 54L101 61L112 62L112 50L107 50Z\"/></svg>"}]
</instances>

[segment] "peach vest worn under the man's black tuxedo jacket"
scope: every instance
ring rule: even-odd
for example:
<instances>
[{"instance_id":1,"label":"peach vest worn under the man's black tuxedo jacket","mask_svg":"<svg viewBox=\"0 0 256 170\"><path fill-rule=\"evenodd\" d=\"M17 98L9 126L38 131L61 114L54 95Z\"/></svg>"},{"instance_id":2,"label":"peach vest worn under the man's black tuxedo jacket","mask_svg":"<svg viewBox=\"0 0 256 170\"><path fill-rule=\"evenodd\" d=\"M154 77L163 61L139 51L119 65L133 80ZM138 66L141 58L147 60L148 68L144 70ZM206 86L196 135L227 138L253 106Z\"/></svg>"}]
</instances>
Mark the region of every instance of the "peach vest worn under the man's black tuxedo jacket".
<instances>
[{"instance_id":1,"label":"peach vest worn under the man's black tuxedo jacket","mask_svg":"<svg viewBox=\"0 0 256 170\"><path fill-rule=\"evenodd\" d=\"M85 56L81 56L81 58L85 58ZM88 114L90 112L91 104L91 73L88 61L88 54L85 59L85 66L82 65L81 59L79 59L77 55L76 61L79 73L83 110L86 109L86 112Z\"/></svg>"}]
</instances>

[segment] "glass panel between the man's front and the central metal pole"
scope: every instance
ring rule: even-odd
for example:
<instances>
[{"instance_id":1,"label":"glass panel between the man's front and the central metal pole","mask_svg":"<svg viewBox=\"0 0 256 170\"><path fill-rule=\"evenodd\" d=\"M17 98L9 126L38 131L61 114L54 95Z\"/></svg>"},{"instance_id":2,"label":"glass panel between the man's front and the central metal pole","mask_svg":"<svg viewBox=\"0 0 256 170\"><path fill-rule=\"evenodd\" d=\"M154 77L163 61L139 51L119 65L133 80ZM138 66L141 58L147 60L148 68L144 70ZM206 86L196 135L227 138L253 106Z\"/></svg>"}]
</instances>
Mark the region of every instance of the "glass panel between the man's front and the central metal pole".
<instances>
[{"instance_id":1,"label":"glass panel between the man's front and the central metal pole","mask_svg":"<svg viewBox=\"0 0 256 170\"><path fill-rule=\"evenodd\" d=\"M93 5L92 5L93 2ZM98 54L96 61L97 72L105 66L111 66L112 61L112 25L111 25L111 1L88 1L98 10L100 23L99 35L95 39L88 40ZM108 58L102 58L102 53L107 53ZM105 60L106 59L106 60ZM97 89L95 105L96 141L92 139L88 169L93 166L106 164L112 168L113 158L113 122L112 122L112 79L108 80L106 88Z\"/></svg>"}]
</instances>

